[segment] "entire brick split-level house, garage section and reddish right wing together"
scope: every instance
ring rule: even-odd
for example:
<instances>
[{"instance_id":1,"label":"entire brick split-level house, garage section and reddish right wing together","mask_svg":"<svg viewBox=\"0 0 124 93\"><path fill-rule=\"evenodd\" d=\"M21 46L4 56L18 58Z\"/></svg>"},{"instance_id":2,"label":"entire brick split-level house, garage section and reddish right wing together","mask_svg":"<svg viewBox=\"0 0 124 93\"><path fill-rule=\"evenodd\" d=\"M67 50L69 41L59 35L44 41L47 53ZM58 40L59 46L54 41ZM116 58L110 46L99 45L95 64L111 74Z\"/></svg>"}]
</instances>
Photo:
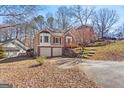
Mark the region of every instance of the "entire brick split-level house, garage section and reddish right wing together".
<instances>
[{"instance_id":1,"label":"entire brick split-level house, garage section and reddish right wing together","mask_svg":"<svg viewBox=\"0 0 124 93\"><path fill-rule=\"evenodd\" d=\"M34 38L34 53L38 56L61 56L63 48L78 47L80 39L87 43L96 40L96 34L91 26L80 26L67 32L44 29Z\"/></svg>"}]
</instances>

